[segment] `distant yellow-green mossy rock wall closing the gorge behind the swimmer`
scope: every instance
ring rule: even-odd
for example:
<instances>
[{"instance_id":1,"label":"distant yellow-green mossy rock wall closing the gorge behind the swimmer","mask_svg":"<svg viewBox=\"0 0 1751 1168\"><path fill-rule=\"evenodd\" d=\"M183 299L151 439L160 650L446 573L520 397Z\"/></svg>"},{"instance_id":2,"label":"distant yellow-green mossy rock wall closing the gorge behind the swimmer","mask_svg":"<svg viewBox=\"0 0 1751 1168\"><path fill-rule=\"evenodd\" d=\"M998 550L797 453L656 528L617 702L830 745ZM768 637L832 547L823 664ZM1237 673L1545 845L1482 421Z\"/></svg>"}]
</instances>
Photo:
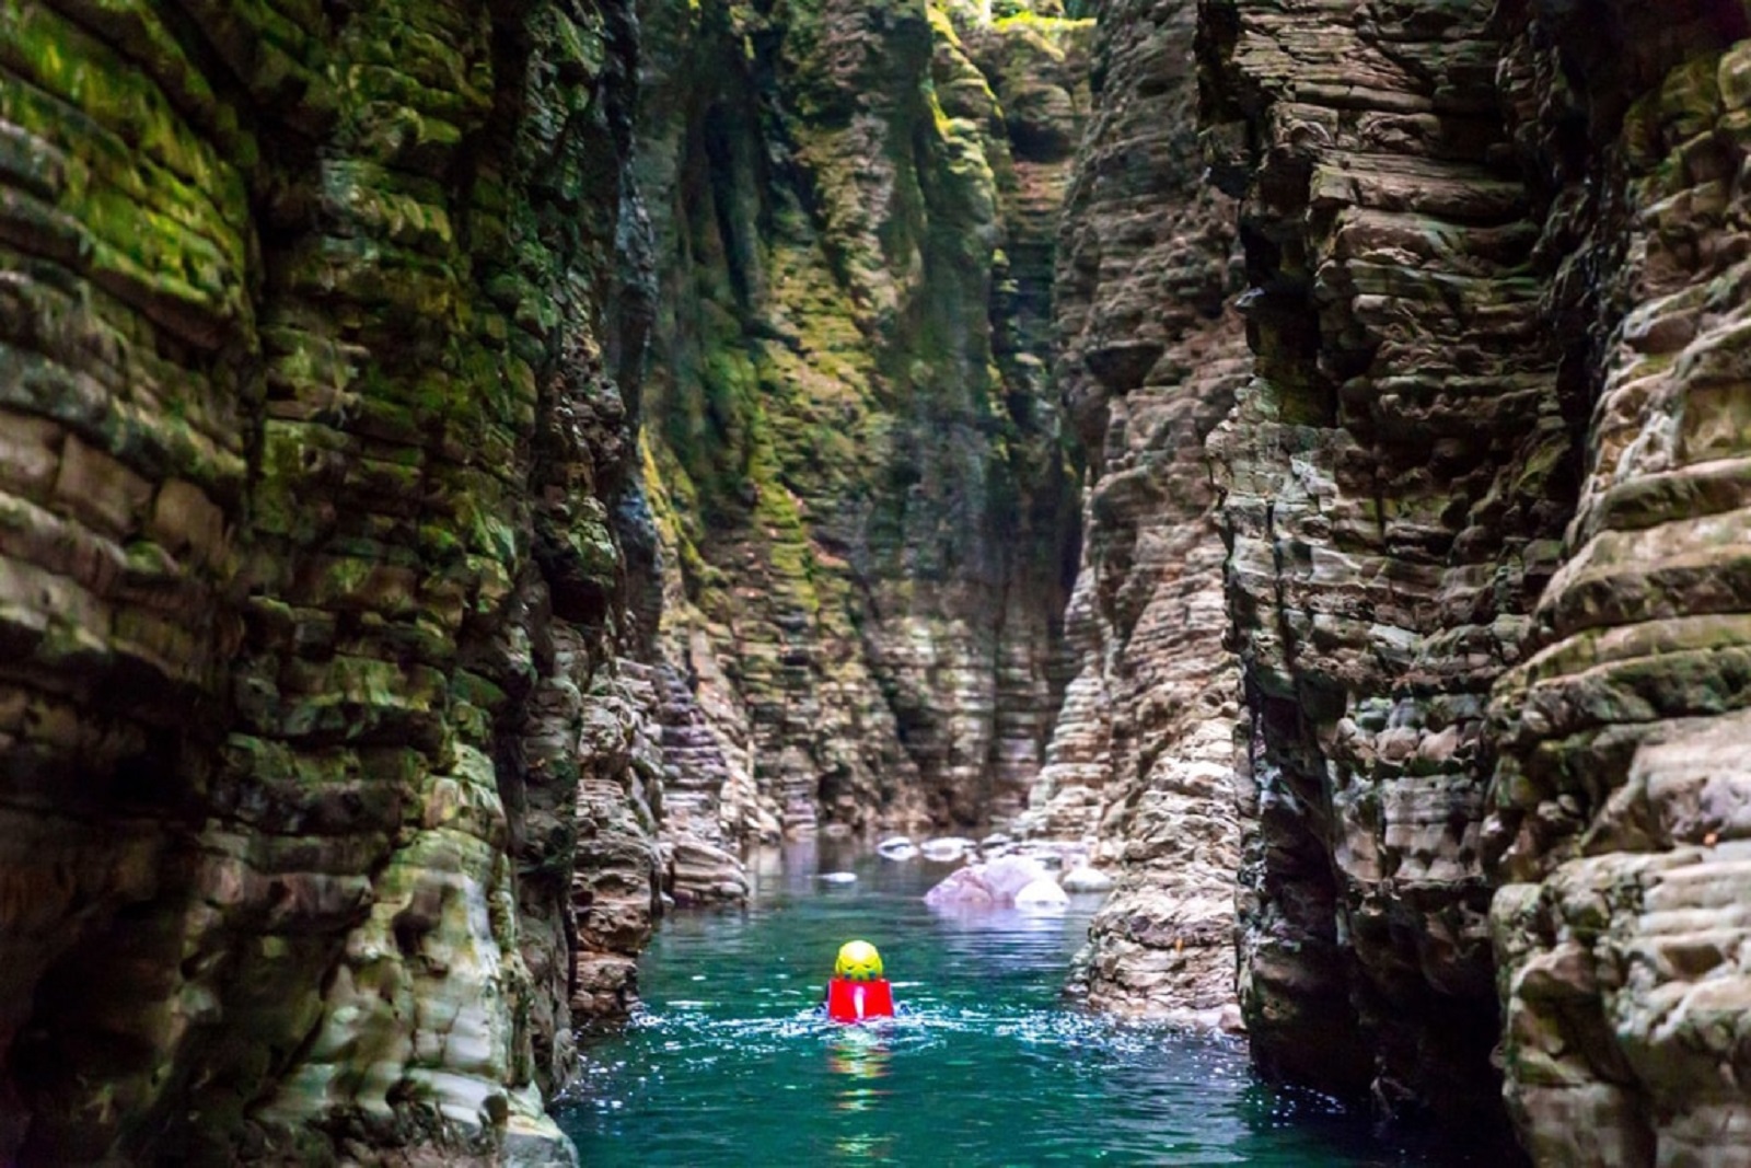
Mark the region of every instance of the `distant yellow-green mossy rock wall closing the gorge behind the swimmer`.
<instances>
[{"instance_id":1,"label":"distant yellow-green mossy rock wall closing the gorge behind the swimmer","mask_svg":"<svg viewBox=\"0 0 1751 1168\"><path fill-rule=\"evenodd\" d=\"M727 841L1014 813L1063 688L1045 350L1087 23L982 9L641 12L664 667Z\"/></svg>"}]
</instances>

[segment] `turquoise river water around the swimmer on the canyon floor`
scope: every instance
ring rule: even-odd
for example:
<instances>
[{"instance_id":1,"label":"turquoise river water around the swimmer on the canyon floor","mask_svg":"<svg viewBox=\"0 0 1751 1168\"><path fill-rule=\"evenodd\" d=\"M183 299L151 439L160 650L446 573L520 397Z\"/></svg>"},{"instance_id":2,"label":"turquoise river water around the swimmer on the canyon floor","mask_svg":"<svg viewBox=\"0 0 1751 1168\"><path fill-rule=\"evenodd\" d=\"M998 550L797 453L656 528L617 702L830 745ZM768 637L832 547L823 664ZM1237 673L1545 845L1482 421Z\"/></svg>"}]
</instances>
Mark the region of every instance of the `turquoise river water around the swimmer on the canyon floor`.
<instances>
[{"instance_id":1,"label":"turquoise river water around the swimmer on the canyon floor","mask_svg":"<svg viewBox=\"0 0 1751 1168\"><path fill-rule=\"evenodd\" d=\"M1059 996L1098 898L1070 914L940 916L947 869L793 848L746 912L679 914L646 1009L585 1040L559 1112L588 1164L1434 1164L1317 1096L1254 1080L1240 1044L1091 1016ZM818 870L849 867L854 884ZM814 1010L865 937L907 1010Z\"/></svg>"}]
</instances>

